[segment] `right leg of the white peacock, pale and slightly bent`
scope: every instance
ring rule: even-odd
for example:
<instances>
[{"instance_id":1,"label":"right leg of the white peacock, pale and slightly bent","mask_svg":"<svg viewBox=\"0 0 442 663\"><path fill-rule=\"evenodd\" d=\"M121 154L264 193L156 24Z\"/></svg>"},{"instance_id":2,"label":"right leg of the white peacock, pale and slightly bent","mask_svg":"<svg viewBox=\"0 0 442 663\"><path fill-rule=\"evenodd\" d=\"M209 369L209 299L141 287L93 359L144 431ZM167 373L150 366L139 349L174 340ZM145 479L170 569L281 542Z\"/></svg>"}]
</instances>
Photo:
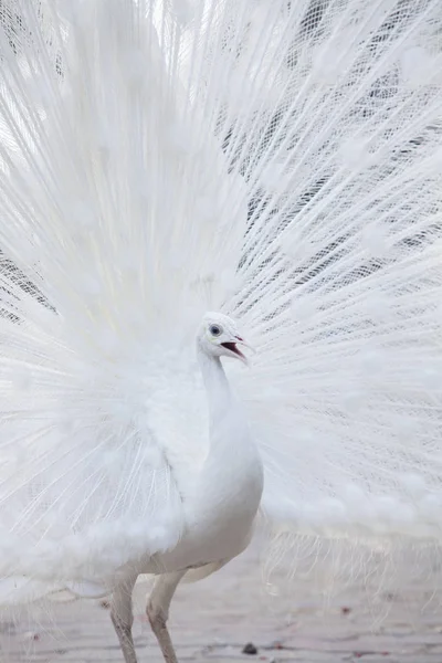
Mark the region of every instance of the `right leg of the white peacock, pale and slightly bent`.
<instances>
[{"instance_id":1,"label":"right leg of the white peacock, pale and slightly bent","mask_svg":"<svg viewBox=\"0 0 442 663\"><path fill-rule=\"evenodd\" d=\"M154 585L146 607L146 613L151 629L158 640L166 663L177 663L172 641L167 629L170 601L175 590L186 571L159 576Z\"/></svg>"}]
</instances>

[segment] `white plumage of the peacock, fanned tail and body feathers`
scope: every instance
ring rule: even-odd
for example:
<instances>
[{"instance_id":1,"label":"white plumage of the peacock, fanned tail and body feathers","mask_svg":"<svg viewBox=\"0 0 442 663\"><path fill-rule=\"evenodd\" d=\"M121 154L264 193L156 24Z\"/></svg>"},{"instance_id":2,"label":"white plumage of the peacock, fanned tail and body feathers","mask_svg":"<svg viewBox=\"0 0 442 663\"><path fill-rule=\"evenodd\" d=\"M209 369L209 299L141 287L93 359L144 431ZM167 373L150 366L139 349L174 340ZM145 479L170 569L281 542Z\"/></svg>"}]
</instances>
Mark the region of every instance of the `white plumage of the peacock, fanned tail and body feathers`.
<instances>
[{"instance_id":1,"label":"white plumage of the peacock, fanned tail and body feathers","mask_svg":"<svg viewBox=\"0 0 442 663\"><path fill-rule=\"evenodd\" d=\"M259 504L439 543L440 0L0 14L0 602L114 591L133 663L137 573L159 633Z\"/></svg>"}]
</instances>

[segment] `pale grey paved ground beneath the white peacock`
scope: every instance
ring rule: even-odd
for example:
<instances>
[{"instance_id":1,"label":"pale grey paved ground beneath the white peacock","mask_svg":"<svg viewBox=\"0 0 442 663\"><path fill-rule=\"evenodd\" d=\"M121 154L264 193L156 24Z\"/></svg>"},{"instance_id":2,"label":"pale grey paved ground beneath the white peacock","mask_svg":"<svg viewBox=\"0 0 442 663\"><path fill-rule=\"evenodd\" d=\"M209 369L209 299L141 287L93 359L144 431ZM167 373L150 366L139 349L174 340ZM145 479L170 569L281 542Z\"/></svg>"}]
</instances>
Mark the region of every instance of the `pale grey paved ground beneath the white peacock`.
<instances>
[{"instance_id":1,"label":"pale grey paved ground beneath the white peacock","mask_svg":"<svg viewBox=\"0 0 442 663\"><path fill-rule=\"evenodd\" d=\"M433 572L417 580L406 568L391 590L386 573L380 582L364 572L336 583L327 564L312 571L312 560L305 559L292 582L273 578L276 589L263 580L252 551L201 582L180 587L170 618L179 660L442 662L442 610ZM144 617L146 590L143 585L136 590L135 641L139 663L160 663ZM242 653L250 642L257 653ZM2 613L0 661L122 663L122 655L107 607L92 601L59 603L52 614L41 610L32 619Z\"/></svg>"}]
</instances>

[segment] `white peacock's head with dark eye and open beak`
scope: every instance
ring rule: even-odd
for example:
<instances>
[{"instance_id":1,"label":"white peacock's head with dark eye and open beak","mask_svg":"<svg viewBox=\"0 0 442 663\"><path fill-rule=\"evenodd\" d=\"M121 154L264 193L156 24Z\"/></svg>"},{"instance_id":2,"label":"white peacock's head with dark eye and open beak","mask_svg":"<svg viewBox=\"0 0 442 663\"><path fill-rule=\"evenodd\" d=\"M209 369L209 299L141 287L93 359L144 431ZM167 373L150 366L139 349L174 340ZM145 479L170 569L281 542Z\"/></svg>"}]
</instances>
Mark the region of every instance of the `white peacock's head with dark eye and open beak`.
<instances>
[{"instance_id":1,"label":"white peacock's head with dark eye and open beak","mask_svg":"<svg viewBox=\"0 0 442 663\"><path fill-rule=\"evenodd\" d=\"M207 313L198 335L202 351L211 357L233 357L248 364L238 345L249 347L240 336L236 324L222 313Z\"/></svg>"}]
</instances>

